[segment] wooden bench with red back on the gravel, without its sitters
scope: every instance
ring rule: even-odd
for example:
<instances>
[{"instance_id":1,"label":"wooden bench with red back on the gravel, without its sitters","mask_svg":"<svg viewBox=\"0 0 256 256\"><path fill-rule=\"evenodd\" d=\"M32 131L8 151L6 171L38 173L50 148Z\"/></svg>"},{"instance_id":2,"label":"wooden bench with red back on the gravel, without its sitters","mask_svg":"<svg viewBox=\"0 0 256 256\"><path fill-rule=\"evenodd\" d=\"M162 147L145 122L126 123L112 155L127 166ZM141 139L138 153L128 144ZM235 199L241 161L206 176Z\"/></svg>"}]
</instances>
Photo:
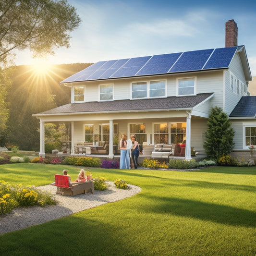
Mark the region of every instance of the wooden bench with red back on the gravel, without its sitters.
<instances>
[{"instance_id":1,"label":"wooden bench with red back on the gravel, without its sitters","mask_svg":"<svg viewBox=\"0 0 256 256\"><path fill-rule=\"evenodd\" d=\"M90 180L87 182L76 182L69 184L69 177L67 175L54 174L55 176L55 184L53 186L57 186L56 194L61 195L79 195L86 194L87 192L91 192L94 194L94 186L93 181Z\"/></svg>"}]
</instances>

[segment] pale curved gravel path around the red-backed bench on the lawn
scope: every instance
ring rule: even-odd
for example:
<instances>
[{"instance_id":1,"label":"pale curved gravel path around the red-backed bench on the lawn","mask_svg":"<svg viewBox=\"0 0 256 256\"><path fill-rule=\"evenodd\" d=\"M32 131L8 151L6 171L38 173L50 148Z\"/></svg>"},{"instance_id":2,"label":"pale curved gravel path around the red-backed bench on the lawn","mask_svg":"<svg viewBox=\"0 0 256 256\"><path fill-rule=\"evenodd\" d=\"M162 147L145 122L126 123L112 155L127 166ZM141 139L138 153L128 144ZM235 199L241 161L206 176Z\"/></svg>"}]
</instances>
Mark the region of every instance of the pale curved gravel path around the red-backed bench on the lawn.
<instances>
[{"instance_id":1,"label":"pale curved gravel path around the red-backed bench on the lawn","mask_svg":"<svg viewBox=\"0 0 256 256\"><path fill-rule=\"evenodd\" d=\"M86 193L75 196L55 195L56 187L50 185L38 187L42 191L53 194L57 200L57 205L13 209L11 213L0 217L0 234L21 230L53 219L60 219L79 211L122 200L141 191L140 187L130 184L128 189L118 189L113 182L108 182L108 185L108 190L95 190L94 194Z\"/></svg>"}]
</instances>

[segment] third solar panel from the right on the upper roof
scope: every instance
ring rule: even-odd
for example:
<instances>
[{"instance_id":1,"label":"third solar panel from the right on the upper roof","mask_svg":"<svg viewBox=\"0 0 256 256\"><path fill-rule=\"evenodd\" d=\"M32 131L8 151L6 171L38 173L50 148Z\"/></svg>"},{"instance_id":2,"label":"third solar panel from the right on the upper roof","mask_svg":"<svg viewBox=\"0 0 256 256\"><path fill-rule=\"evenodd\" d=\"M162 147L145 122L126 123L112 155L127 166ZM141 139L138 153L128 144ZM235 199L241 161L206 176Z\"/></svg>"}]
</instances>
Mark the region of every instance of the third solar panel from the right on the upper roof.
<instances>
[{"instance_id":1,"label":"third solar panel from the right on the upper roof","mask_svg":"<svg viewBox=\"0 0 256 256\"><path fill-rule=\"evenodd\" d=\"M136 75L167 73L181 56L180 53L154 55Z\"/></svg>"}]
</instances>

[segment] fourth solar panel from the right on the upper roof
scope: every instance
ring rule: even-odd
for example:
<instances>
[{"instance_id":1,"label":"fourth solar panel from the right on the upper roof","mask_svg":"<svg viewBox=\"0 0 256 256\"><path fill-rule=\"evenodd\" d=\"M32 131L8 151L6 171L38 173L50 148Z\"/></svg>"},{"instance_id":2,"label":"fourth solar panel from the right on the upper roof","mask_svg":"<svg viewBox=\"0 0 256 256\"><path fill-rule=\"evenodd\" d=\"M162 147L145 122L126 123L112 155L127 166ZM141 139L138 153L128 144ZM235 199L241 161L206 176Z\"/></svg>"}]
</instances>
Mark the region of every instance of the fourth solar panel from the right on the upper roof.
<instances>
[{"instance_id":1,"label":"fourth solar panel from the right on the upper roof","mask_svg":"<svg viewBox=\"0 0 256 256\"><path fill-rule=\"evenodd\" d=\"M132 58L127 61L122 68L117 70L112 77L127 77L134 76L151 58L151 56Z\"/></svg>"}]
</instances>

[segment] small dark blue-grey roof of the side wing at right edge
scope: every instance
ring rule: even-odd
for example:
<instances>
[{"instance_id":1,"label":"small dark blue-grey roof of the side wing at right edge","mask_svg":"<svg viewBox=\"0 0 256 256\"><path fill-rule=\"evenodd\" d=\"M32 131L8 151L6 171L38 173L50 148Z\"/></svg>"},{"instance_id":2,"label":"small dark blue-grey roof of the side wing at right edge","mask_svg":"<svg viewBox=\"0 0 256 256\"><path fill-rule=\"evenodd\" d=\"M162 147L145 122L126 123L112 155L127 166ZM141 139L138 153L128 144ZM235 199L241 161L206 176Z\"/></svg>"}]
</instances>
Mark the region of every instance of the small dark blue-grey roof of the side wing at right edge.
<instances>
[{"instance_id":1,"label":"small dark blue-grey roof of the side wing at right edge","mask_svg":"<svg viewBox=\"0 0 256 256\"><path fill-rule=\"evenodd\" d=\"M243 96L230 117L256 118L256 96Z\"/></svg>"}]
</instances>

